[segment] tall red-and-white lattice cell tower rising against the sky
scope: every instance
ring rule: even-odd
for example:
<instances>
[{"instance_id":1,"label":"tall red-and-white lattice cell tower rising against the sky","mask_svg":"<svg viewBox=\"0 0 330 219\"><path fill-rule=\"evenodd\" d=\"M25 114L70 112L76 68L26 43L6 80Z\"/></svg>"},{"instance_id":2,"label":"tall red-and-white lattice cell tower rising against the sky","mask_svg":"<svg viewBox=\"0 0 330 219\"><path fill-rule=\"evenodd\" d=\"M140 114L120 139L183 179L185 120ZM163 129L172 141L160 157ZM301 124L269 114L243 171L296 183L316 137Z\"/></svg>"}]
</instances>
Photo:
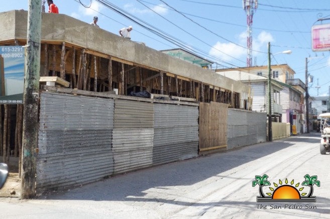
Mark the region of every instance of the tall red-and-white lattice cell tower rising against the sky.
<instances>
[{"instance_id":1,"label":"tall red-and-white lattice cell tower rising against the sky","mask_svg":"<svg viewBox=\"0 0 330 219\"><path fill-rule=\"evenodd\" d=\"M247 15L247 67L252 66L252 23L253 23L253 14L258 8L258 0L243 0L243 9Z\"/></svg>"}]
</instances>

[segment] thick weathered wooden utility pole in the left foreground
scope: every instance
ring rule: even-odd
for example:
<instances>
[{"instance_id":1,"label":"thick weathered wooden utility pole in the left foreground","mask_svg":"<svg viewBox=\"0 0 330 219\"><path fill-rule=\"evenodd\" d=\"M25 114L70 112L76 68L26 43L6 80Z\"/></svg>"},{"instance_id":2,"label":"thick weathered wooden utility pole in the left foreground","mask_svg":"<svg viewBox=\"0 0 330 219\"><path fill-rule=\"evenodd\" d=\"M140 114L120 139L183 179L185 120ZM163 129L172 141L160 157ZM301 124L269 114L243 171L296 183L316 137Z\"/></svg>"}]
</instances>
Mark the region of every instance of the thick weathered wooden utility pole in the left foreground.
<instances>
[{"instance_id":1,"label":"thick weathered wooden utility pole in the left foreground","mask_svg":"<svg viewBox=\"0 0 330 219\"><path fill-rule=\"evenodd\" d=\"M40 78L41 1L29 0L26 72L24 83L22 198L36 195L38 100Z\"/></svg>"}]
</instances>

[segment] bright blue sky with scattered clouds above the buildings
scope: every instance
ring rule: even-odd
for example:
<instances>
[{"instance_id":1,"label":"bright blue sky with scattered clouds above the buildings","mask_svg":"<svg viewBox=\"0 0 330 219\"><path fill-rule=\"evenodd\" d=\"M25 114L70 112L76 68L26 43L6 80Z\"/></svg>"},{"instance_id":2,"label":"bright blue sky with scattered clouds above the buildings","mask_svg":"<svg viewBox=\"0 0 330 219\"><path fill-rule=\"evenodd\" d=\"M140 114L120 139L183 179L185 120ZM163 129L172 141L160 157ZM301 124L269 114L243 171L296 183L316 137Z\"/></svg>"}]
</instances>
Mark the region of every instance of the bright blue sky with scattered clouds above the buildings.
<instances>
[{"instance_id":1,"label":"bright blue sky with scattered clouds above the buildings","mask_svg":"<svg viewBox=\"0 0 330 219\"><path fill-rule=\"evenodd\" d=\"M105 2L111 2L138 19L184 42L200 56L217 62L219 68L246 66L247 50L244 47L246 47L247 16L242 7L242 0L162 1ZM13 2L2 3L1 11L28 9L28 0L16 0L15 4ZM80 0L80 2L90 5L90 0ZM79 0L54 0L54 3L58 6L60 14L75 17L86 23L92 22L93 16L98 16L97 24L100 28L114 34L118 34L121 28L132 25L134 28L131 32L132 40L144 42L146 46L155 50L178 48L94 0L91 2L93 10L84 8ZM272 64L288 64L297 73L295 77L305 82L305 58L317 56L319 58L308 60L308 73L314 77L314 82L309 83L309 94L317 95L316 86L319 79L319 96L328 96L330 53L312 52L310 30L317 19L330 18L329 1L259 0L258 3L258 9L253 17L253 50L256 51L253 52L253 65L267 65L267 43L271 42L272 54L292 50L291 55L278 54L273 57ZM184 13L183 15L190 20L173 9ZM324 21L323 24L325 23L330 21Z\"/></svg>"}]
</instances>

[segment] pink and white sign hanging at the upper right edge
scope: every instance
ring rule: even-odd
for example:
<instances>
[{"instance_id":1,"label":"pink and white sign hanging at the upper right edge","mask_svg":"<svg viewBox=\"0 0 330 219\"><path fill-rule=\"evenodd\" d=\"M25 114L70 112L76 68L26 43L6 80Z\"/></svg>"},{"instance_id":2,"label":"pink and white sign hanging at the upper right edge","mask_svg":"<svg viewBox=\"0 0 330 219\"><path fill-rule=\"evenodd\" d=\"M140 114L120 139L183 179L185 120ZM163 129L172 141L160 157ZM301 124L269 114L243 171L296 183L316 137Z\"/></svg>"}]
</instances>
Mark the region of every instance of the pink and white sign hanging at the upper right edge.
<instances>
[{"instance_id":1,"label":"pink and white sign hanging at the upper right edge","mask_svg":"<svg viewBox=\"0 0 330 219\"><path fill-rule=\"evenodd\" d=\"M312 33L312 50L330 51L330 24L314 25Z\"/></svg>"}]
</instances>

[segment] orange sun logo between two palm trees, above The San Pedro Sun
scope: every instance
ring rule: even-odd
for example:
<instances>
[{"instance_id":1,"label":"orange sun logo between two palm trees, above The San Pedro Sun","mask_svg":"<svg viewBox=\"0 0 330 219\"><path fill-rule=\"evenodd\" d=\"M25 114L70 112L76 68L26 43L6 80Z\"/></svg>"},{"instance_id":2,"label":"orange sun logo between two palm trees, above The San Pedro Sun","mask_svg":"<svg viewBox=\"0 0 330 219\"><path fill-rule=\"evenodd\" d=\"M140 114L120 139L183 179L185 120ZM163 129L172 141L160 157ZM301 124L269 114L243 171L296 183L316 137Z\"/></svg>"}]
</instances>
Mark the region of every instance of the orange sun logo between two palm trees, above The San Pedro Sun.
<instances>
[{"instance_id":1,"label":"orange sun logo between two palm trees, above The San Pedro Sun","mask_svg":"<svg viewBox=\"0 0 330 219\"><path fill-rule=\"evenodd\" d=\"M257 197L257 202L315 202L316 197L312 196L313 194L313 185L320 186L320 182L317 180L317 176L309 176L306 174L304 176L305 181L301 183L303 186L309 186L309 193L301 192L304 187L299 187L299 182L294 184L294 180L292 179L289 183L288 179L285 179L285 184L282 180L279 180L278 184L273 183L274 187L269 187L271 192L266 193L263 192L264 186L270 186L271 183L267 180L268 175L264 174L263 176L256 175L255 179L252 181L252 186L259 185L259 194ZM300 193L301 192L301 193Z\"/></svg>"}]
</instances>

